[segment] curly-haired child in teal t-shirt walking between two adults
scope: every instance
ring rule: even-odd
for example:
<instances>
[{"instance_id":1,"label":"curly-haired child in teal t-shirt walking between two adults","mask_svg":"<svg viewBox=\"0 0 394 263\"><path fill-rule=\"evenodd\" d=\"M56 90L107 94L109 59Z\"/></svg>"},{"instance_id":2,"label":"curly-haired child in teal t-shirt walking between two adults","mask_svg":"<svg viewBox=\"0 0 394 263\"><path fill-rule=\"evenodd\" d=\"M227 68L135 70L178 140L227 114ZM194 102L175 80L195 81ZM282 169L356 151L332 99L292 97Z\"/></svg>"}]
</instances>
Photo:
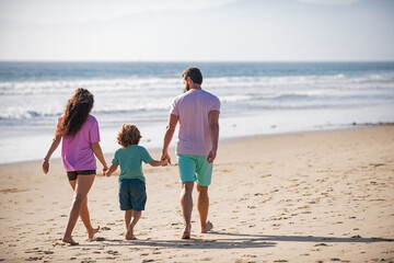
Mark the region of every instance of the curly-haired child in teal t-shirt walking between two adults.
<instances>
[{"instance_id":1,"label":"curly-haired child in teal t-shirt walking between two adults","mask_svg":"<svg viewBox=\"0 0 394 263\"><path fill-rule=\"evenodd\" d=\"M119 175L119 203L120 210L125 210L126 240L136 239L134 228L141 217L147 203L146 180L142 173L141 163L149 163L152 167L166 165L169 159L157 161L151 158L146 148L138 146L141 138L140 132L132 124L124 124L117 137L121 146L112 161L112 165L105 173L111 176L118 165Z\"/></svg>"}]
</instances>

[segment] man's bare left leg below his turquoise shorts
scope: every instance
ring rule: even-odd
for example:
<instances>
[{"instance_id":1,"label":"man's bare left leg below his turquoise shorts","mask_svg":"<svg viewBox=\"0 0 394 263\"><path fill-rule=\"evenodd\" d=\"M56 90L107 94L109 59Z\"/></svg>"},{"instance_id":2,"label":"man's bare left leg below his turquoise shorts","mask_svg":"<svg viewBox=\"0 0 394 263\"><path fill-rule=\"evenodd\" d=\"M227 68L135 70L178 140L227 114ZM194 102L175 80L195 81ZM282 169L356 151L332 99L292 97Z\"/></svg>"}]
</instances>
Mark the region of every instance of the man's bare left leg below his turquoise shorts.
<instances>
[{"instance_id":1,"label":"man's bare left leg below his turquoise shorts","mask_svg":"<svg viewBox=\"0 0 394 263\"><path fill-rule=\"evenodd\" d=\"M187 181L182 183L181 191L181 209L182 216L185 225L184 233L182 236L183 239L190 238L192 230L192 210L193 210L193 187L194 181Z\"/></svg>"}]
</instances>

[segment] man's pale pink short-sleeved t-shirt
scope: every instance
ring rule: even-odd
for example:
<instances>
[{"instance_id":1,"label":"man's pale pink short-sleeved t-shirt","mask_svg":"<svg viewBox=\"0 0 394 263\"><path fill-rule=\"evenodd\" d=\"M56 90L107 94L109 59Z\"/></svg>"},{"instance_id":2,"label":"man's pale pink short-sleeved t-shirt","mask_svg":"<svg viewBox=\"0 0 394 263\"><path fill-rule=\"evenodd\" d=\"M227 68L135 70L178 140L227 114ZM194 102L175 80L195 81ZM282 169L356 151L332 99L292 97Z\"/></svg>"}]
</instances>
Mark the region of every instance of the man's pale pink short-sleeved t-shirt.
<instances>
[{"instance_id":1,"label":"man's pale pink short-sleeved t-shirt","mask_svg":"<svg viewBox=\"0 0 394 263\"><path fill-rule=\"evenodd\" d=\"M174 99L170 114L179 118L177 155L208 156L212 149L208 115L220 111L220 101L205 90L189 90Z\"/></svg>"}]
</instances>

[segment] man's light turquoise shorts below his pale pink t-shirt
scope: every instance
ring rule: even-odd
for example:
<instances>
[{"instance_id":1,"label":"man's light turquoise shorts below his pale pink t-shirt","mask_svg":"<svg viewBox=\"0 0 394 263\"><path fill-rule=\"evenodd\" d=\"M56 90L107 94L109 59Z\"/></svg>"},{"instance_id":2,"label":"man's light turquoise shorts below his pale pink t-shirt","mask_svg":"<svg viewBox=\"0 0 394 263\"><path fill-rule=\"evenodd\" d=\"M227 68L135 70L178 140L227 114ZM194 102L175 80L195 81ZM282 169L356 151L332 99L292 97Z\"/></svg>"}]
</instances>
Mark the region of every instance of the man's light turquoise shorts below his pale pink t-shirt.
<instances>
[{"instance_id":1,"label":"man's light turquoise shorts below his pale pink t-shirt","mask_svg":"<svg viewBox=\"0 0 394 263\"><path fill-rule=\"evenodd\" d=\"M194 181L198 185L211 183L213 163L208 163L208 156L177 155L181 182Z\"/></svg>"}]
</instances>

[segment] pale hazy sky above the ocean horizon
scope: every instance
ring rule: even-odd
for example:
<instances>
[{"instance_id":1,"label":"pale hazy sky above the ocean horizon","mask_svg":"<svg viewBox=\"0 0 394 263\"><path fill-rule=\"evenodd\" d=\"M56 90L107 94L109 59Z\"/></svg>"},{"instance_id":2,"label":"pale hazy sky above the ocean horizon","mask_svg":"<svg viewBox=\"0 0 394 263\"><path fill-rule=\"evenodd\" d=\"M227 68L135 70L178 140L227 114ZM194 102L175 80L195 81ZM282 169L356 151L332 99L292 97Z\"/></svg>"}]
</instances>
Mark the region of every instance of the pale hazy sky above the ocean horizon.
<instances>
[{"instance_id":1,"label":"pale hazy sky above the ocean horizon","mask_svg":"<svg viewBox=\"0 0 394 263\"><path fill-rule=\"evenodd\" d=\"M0 0L0 60L394 60L394 0Z\"/></svg>"}]
</instances>

